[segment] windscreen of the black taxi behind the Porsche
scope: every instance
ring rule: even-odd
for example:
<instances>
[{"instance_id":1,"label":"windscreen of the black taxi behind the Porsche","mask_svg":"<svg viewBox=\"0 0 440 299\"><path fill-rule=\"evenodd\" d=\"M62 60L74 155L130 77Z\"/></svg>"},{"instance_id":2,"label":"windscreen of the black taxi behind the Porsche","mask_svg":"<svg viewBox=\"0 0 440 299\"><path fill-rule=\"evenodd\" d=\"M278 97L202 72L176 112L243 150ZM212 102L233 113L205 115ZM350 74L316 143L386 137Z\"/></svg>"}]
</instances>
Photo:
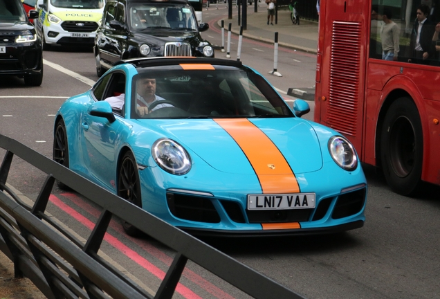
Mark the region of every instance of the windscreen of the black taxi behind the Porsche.
<instances>
[{"instance_id":1,"label":"windscreen of the black taxi behind the Porsche","mask_svg":"<svg viewBox=\"0 0 440 299\"><path fill-rule=\"evenodd\" d=\"M197 30L197 21L189 5L169 3L136 3L129 8L131 30L168 28Z\"/></svg>"}]
</instances>

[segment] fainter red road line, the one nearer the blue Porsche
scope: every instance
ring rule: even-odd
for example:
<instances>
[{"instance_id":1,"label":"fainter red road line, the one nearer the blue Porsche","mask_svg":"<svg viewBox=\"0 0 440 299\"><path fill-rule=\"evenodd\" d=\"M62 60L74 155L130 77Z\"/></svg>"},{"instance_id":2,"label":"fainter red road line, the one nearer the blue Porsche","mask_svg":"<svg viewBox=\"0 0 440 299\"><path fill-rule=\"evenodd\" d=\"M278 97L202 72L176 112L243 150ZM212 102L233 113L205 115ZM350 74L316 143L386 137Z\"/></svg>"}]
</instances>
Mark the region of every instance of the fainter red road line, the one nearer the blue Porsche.
<instances>
[{"instance_id":1,"label":"fainter red road line, the one nearer the blue Porsche","mask_svg":"<svg viewBox=\"0 0 440 299\"><path fill-rule=\"evenodd\" d=\"M73 193L62 193L63 197L66 197L69 199L72 203L74 203L76 206L82 208L84 211L88 212L90 215L92 215L95 218L100 217L100 211L95 209L93 206L91 206L89 203L86 203L83 199L78 197L76 194ZM170 266L172 264L172 257L169 257L163 251L160 251L158 248L152 246L152 244L149 244L145 242L142 239L136 239L134 237L130 237L129 235L125 234L125 231L122 229L122 226L118 224L116 221L113 221L113 219L110 221L109 225L113 230L116 230L116 232L125 235L127 239L130 239L131 242L134 242L138 244L143 250L147 251L150 255L153 255L156 257L156 259L160 260L167 266ZM208 282L208 280L205 280L202 278L199 274L194 273L194 271L191 271L190 269L185 268L183 271L183 276L187 278L188 280L191 280L194 282L194 284L199 285L202 289L210 293L212 296L215 296L217 298L222 299L234 299L234 297L230 296L228 293L220 289L219 287L216 287L211 282Z\"/></svg>"}]
</instances>

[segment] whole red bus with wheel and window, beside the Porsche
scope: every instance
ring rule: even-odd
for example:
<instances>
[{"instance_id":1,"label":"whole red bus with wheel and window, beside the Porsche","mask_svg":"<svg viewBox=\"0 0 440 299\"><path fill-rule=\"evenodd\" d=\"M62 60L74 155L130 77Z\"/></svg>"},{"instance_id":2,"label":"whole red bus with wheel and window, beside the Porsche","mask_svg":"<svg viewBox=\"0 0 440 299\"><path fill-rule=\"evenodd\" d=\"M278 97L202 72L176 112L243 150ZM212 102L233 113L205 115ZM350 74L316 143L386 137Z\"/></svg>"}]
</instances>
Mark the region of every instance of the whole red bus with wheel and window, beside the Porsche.
<instances>
[{"instance_id":1,"label":"whole red bus with wheel and window, beside the Porsche","mask_svg":"<svg viewBox=\"0 0 440 299\"><path fill-rule=\"evenodd\" d=\"M440 185L440 0L321 0L315 121L411 196Z\"/></svg>"}]
</instances>

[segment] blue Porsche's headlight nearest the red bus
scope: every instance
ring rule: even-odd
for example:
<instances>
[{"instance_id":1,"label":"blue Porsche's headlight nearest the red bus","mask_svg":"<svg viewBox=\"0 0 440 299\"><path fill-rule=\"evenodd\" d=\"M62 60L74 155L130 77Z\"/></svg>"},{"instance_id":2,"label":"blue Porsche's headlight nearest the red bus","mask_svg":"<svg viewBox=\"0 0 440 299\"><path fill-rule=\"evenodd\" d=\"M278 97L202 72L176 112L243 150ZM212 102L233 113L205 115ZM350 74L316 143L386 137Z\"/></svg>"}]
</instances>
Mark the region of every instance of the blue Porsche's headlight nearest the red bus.
<instances>
[{"instance_id":1,"label":"blue Porsche's headlight nearest the red bus","mask_svg":"<svg viewBox=\"0 0 440 299\"><path fill-rule=\"evenodd\" d=\"M358 167L358 158L353 145L342 136L333 136L329 140L331 158L342 169L355 170Z\"/></svg>"}]
</instances>

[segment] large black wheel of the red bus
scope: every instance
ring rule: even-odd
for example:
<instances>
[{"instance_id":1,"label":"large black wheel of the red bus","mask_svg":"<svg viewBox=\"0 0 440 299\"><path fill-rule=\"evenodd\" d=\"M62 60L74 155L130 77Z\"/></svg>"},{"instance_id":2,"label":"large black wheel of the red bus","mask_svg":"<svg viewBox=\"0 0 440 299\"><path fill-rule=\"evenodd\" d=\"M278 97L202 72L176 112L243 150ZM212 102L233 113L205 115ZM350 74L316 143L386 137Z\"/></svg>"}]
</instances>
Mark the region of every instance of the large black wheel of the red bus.
<instances>
[{"instance_id":1,"label":"large black wheel of the red bus","mask_svg":"<svg viewBox=\"0 0 440 299\"><path fill-rule=\"evenodd\" d=\"M398 98L385 115L381 163L389 187L413 196L421 187L423 131L419 111L410 98Z\"/></svg>"}]
</instances>

